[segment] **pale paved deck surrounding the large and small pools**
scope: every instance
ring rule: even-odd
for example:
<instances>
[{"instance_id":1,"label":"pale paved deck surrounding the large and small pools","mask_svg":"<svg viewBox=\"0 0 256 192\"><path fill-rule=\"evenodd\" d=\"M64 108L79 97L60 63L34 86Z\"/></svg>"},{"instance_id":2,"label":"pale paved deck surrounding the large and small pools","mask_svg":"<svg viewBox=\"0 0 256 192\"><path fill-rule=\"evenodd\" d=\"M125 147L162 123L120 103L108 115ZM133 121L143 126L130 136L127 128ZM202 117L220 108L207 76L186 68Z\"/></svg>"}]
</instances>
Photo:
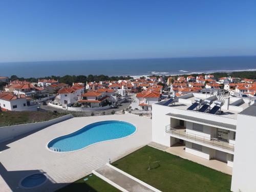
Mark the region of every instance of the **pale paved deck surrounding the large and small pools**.
<instances>
[{"instance_id":1,"label":"pale paved deck surrounding the large and small pools","mask_svg":"<svg viewBox=\"0 0 256 192\"><path fill-rule=\"evenodd\" d=\"M47 143L52 139L73 133L90 123L104 120L122 120L137 127L135 134L112 141L91 145L75 152L52 152ZM72 183L152 141L152 121L135 115L108 115L72 118L51 125L9 142L0 143L1 191L54 191ZM34 189L18 186L20 180L33 173L46 173L49 180Z\"/></svg>"}]
</instances>

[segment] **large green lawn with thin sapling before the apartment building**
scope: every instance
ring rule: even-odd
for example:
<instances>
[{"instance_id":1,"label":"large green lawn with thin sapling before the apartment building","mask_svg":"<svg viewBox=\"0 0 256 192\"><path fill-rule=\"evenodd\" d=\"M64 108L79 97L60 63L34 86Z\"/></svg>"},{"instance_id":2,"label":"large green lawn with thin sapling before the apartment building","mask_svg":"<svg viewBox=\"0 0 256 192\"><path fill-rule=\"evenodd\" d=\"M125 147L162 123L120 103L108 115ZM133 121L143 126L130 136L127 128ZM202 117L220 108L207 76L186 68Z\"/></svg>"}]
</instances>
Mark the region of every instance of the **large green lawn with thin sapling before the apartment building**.
<instances>
[{"instance_id":1,"label":"large green lawn with thin sapling before the apartment building","mask_svg":"<svg viewBox=\"0 0 256 192\"><path fill-rule=\"evenodd\" d=\"M149 157L152 169L148 170ZM162 191L230 191L231 176L150 146L112 163Z\"/></svg>"}]
</instances>

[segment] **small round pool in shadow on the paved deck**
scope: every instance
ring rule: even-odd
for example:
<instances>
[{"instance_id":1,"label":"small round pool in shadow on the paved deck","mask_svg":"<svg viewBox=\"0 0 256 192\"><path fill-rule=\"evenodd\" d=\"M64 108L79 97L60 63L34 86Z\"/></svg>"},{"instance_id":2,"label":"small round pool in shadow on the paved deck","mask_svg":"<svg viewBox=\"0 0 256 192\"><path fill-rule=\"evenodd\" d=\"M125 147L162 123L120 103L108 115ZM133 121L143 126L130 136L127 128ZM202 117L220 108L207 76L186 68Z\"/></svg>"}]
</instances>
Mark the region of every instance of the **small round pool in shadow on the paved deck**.
<instances>
[{"instance_id":1,"label":"small round pool in shadow on the paved deck","mask_svg":"<svg viewBox=\"0 0 256 192\"><path fill-rule=\"evenodd\" d=\"M34 188L46 183L47 180L48 178L45 174L32 174L20 181L19 186L22 188Z\"/></svg>"}]
</instances>

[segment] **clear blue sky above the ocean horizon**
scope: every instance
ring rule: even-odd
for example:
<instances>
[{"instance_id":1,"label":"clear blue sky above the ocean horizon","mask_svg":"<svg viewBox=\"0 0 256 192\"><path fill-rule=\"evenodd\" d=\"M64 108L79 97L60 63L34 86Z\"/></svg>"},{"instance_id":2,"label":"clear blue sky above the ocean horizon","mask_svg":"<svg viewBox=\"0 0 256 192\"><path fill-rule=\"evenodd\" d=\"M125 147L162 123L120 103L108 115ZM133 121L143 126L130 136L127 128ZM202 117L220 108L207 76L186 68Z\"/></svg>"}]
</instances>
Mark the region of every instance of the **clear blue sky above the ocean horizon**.
<instances>
[{"instance_id":1,"label":"clear blue sky above the ocean horizon","mask_svg":"<svg viewBox=\"0 0 256 192\"><path fill-rule=\"evenodd\" d=\"M1 0L0 62L256 55L256 1Z\"/></svg>"}]
</instances>

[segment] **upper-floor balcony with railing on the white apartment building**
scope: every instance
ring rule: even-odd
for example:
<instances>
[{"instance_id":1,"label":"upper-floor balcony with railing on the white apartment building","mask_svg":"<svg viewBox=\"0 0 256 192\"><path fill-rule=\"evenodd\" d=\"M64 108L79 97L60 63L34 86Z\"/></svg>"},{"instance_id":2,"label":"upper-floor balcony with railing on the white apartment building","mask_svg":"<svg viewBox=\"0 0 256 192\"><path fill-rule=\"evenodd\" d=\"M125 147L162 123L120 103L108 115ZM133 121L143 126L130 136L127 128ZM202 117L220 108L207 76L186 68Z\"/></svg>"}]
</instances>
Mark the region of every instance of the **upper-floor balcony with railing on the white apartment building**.
<instances>
[{"instance_id":1,"label":"upper-floor balcony with railing on the white apartment building","mask_svg":"<svg viewBox=\"0 0 256 192\"><path fill-rule=\"evenodd\" d=\"M215 146L218 148L222 148L224 150L228 150L231 152L234 152L234 145L225 141L221 141L218 138L214 137L203 137L201 135L192 134L192 133L186 133L186 128L183 126L176 126L175 129L171 128L170 125L165 126L166 133L170 133L174 136L179 136L181 138L184 138L185 140L190 141L197 141L204 143L206 145Z\"/></svg>"}]
</instances>

